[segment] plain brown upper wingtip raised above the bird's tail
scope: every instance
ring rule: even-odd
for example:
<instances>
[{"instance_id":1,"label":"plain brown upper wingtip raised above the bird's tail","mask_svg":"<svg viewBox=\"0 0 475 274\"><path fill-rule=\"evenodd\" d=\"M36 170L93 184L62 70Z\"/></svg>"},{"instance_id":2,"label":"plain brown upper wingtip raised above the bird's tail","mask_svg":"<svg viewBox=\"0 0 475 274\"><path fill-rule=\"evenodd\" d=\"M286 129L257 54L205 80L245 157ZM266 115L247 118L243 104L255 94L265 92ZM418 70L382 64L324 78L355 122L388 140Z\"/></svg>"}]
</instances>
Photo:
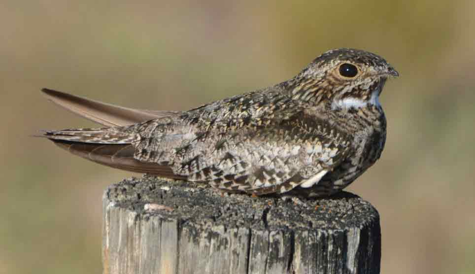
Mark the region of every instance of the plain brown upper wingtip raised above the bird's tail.
<instances>
[{"instance_id":1,"label":"plain brown upper wingtip raised above the bird's tail","mask_svg":"<svg viewBox=\"0 0 475 274\"><path fill-rule=\"evenodd\" d=\"M102 103L87 98L51 89L41 90L46 98L71 112L107 127L127 126L151 119L176 115L174 111L153 111L133 109L108 103Z\"/></svg>"}]
</instances>

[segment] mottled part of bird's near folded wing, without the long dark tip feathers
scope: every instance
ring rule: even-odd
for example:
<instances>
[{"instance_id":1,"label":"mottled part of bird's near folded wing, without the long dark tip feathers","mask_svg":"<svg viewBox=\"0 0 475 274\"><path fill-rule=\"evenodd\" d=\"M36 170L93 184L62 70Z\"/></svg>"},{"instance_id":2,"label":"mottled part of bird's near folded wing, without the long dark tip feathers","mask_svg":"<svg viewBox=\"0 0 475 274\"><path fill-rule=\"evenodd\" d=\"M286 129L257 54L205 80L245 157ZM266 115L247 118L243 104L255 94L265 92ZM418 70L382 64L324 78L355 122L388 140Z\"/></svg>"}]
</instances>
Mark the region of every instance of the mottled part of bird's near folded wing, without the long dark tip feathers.
<instances>
[{"instance_id":1,"label":"mottled part of bird's near folded wing, without the long dark tip feathers","mask_svg":"<svg viewBox=\"0 0 475 274\"><path fill-rule=\"evenodd\" d=\"M229 109L222 110L227 103L221 102L189 113L185 128L172 126L174 134L156 120L142 123L134 157L167 163L187 180L262 195L311 187L350 152L343 134L298 102L233 100Z\"/></svg>"}]
</instances>

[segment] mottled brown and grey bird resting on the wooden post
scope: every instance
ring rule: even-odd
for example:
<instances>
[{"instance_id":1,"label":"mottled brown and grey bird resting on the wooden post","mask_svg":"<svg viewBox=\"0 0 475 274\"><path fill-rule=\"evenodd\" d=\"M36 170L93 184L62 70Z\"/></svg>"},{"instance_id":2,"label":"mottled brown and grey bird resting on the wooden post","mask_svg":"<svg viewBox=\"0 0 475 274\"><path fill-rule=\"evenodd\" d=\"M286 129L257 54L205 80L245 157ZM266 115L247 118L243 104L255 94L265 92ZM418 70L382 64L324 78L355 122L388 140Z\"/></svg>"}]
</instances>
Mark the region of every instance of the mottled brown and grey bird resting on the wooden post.
<instances>
[{"instance_id":1,"label":"mottled brown and grey bird resting on the wooden post","mask_svg":"<svg viewBox=\"0 0 475 274\"><path fill-rule=\"evenodd\" d=\"M42 89L102 127L40 137L105 166L224 192L331 196L380 158L386 118L379 95L397 76L374 53L338 48L287 81L188 111L132 109Z\"/></svg>"}]
</instances>

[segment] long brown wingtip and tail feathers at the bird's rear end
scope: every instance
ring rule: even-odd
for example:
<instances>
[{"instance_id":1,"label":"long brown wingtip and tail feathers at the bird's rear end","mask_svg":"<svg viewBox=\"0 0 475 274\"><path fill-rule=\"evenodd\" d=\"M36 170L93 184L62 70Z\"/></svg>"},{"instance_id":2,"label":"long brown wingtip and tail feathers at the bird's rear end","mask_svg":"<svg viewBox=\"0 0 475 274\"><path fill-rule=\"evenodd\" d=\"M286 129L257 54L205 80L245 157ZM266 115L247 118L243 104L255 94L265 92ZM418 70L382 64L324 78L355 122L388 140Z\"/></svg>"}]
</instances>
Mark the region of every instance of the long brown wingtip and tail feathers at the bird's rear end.
<instances>
[{"instance_id":1,"label":"long brown wingtip and tail feathers at the bird's rear end","mask_svg":"<svg viewBox=\"0 0 475 274\"><path fill-rule=\"evenodd\" d=\"M46 131L37 137L46 137L72 154L112 168L185 179L175 175L170 166L163 163L141 162L135 159L136 148L132 143L138 137L127 131L127 127L132 124L175 116L179 112L126 108L50 89L43 89L42 92L53 103L107 128Z\"/></svg>"}]
</instances>

